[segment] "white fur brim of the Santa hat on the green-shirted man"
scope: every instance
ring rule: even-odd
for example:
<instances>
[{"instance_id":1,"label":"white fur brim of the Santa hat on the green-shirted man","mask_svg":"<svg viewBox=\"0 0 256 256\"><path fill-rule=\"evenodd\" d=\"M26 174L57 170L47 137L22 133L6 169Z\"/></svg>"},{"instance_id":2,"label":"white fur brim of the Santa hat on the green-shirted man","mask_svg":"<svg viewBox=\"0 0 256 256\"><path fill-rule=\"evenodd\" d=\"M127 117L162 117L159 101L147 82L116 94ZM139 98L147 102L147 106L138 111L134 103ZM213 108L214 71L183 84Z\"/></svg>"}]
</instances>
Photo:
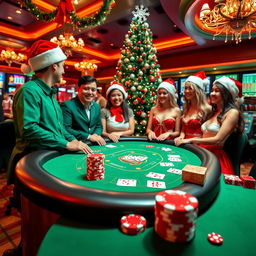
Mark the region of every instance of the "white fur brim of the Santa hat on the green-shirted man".
<instances>
[{"instance_id":1,"label":"white fur brim of the Santa hat on the green-shirted man","mask_svg":"<svg viewBox=\"0 0 256 256\"><path fill-rule=\"evenodd\" d=\"M50 66L51 64L66 60L67 56L63 53L58 46L54 49L45 51L28 60L28 64L32 71L37 71Z\"/></svg>"}]
</instances>

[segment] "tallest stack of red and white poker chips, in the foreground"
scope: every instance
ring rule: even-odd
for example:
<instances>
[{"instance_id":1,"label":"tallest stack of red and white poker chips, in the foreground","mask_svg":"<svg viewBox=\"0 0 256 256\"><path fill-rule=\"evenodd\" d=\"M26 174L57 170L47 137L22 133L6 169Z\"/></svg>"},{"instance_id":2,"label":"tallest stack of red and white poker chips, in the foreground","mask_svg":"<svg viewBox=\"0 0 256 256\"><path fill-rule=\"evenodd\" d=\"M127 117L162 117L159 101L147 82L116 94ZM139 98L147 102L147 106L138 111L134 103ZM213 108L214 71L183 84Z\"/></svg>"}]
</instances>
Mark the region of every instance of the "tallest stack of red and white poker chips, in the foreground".
<instances>
[{"instance_id":1,"label":"tallest stack of red and white poker chips, in the foreground","mask_svg":"<svg viewBox=\"0 0 256 256\"><path fill-rule=\"evenodd\" d=\"M196 230L197 199L180 190L164 190L156 195L155 231L170 242L190 241Z\"/></svg>"}]
</instances>

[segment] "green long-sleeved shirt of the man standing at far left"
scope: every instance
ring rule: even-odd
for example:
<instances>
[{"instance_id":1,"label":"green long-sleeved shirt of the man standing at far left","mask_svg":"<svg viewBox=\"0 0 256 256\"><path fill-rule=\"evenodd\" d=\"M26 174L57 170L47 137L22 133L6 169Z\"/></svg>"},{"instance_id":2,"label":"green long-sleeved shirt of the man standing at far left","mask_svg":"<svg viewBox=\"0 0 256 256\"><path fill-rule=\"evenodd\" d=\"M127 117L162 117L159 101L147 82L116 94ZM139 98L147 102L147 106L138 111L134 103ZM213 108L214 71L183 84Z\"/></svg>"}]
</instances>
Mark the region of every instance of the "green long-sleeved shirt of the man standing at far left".
<instances>
[{"instance_id":1,"label":"green long-sleeved shirt of the man standing at far left","mask_svg":"<svg viewBox=\"0 0 256 256\"><path fill-rule=\"evenodd\" d=\"M13 118L16 145L8 168L8 183L13 182L17 161L27 153L41 149L64 149L75 137L63 126L56 89L40 78L24 84L15 94Z\"/></svg>"}]
</instances>

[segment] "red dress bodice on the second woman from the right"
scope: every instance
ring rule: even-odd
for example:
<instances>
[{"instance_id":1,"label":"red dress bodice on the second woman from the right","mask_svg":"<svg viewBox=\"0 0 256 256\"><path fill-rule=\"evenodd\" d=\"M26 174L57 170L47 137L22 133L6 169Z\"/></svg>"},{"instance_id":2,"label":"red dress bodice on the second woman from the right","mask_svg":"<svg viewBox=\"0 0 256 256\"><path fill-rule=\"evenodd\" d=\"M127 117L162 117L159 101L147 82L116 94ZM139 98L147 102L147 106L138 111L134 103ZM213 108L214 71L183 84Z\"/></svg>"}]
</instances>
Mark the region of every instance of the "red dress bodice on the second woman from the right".
<instances>
[{"instance_id":1,"label":"red dress bodice on the second woman from the right","mask_svg":"<svg viewBox=\"0 0 256 256\"><path fill-rule=\"evenodd\" d=\"M202 137L201 125L202 121L197 118L191 118L185 121L184 118L181 120L182 129L185 133L185 139L190 139L194 137Z\"/></svg>"}]
</instances>

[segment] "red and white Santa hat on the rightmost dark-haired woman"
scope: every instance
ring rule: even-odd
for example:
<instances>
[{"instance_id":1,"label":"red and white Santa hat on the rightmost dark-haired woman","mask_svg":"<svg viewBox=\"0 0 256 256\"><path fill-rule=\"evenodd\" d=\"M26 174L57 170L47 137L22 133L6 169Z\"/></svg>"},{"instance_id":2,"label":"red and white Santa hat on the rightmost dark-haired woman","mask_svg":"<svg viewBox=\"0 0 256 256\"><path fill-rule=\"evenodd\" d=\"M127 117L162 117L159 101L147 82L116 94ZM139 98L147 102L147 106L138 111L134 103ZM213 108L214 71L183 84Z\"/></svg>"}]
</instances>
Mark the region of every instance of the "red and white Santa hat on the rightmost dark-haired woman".
<instances>
[{"instance_id":1,"label":"red and white Santa hat on the rightmost dark-haired woman","mask_svg":"<svg viewBox=\"0 0 256 256\"><path fill-rule=\"evenodd\" d=\"M213 84L215 83L222 84L231 93L234 100L236 100L237 98L239 98L241 101L243 100L242 83L240 83L239 81L233 78L222 76L221 78L213 82Z\"/></svg>"}]
</instances>

